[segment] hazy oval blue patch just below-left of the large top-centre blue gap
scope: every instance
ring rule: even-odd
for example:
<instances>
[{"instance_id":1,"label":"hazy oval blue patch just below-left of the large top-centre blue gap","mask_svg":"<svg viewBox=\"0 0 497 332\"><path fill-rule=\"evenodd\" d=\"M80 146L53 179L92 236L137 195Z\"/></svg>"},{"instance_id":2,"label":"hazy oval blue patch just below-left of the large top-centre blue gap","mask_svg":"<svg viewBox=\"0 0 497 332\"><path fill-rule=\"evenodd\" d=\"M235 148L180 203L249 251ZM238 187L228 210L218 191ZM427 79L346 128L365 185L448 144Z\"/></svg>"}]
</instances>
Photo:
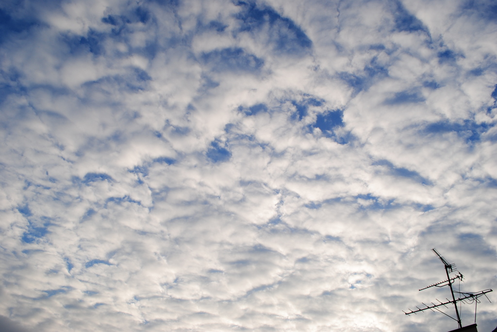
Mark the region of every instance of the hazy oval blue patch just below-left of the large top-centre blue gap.
<instances>
[{"instance_id":1,"label":"hazy oval blue patch just below-left of the large top-centre blue gap","mask_svg":"<svg viewBox=\"0 0 497 332\"><path fill-rule=\"evenodd\" d=\"M258 71L264 61L253 54L246 53L241 48L226 48L202 53L200 56L202 63L211 66L216 72L222 71Z\"/></svg>"}]
</instances>

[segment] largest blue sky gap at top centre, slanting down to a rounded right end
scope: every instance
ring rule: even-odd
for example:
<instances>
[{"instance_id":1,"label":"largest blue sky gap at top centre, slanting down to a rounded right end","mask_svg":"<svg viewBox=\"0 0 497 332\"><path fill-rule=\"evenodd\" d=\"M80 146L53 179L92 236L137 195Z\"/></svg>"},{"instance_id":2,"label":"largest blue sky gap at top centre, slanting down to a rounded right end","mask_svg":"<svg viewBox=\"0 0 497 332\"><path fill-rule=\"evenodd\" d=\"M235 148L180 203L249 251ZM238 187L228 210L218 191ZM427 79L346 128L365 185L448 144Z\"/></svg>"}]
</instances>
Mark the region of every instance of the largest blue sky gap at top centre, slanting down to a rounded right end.
<instances>
[{"instance_id":1,"label":"largest blue sky gap at top centre, slanting down to a rounded right end","mask_svg":"<svg viewBox=\"0 0 497 332\"><path fill-rule=\"evenodd\" d=\"M242 10L235 15L240 20L240 31L253 34L268 33L269 43L276 53L301 56L312 48L305 32L287 17L269 6L258 6L254 1L238 1ZM265 27L268 26L268 29Z\"/></svg>"}]
</instances>

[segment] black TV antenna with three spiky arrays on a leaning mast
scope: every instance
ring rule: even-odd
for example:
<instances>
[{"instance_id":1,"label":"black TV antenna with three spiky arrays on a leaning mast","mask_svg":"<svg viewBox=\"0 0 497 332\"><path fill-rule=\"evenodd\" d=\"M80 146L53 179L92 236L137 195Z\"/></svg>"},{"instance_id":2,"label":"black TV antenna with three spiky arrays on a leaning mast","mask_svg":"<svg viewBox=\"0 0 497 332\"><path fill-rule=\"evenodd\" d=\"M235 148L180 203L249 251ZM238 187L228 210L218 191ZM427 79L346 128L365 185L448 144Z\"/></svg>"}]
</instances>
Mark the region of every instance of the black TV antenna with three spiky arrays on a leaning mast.
<instances>
[{"instance_id":1,"label":"black TV antenna with three spiky arrays on a leaning mast","mask_svg":"<svg viewBox=\"0 0 497 332\"><path fill-rule=\"evenodd\" d=\"M431 284L431 285L426 286L424 288L421 288L419 290L427 289L427 288L434 287L434 286L435 287L449 286L450 293L452 295L452 300L449 300L449 299L446 298L445 300L447 300L447 301L446 302L442 302L442 301L436 299L439 302L437 304L431 302L431 305L426 305L426 304L423 303L423 305L426 308L416 307L417 310L411 310L411 309L409 309L409 312L405 312L404 310L403 310L403 312L406 315L411 315L411 314L416 314L417 312L425 311L425 310L428 310L428 309L431 310L431 311L433 311L433 312L435 312L435 310L436 310L438 312L441 312L445 316L448 316L448 317L452 318L453 320L457 321L457 324L459 325L459 329L461 329L462 328L461 317L459 316L459 310L457 309L457 302L470 303L470 304L474 302L475 303L475 323L476 323L476 304L480 303L480 300L478 298L480 296L482 296L482 295L485 295L486 293L490 293L492 291L492 289L482 290L482 291L479 291L477 293L463 293L463 292L454 291L454 289L452 288L452 284L455 282L456 279L459 279L460 281L463 281L464 276L462 275L461 272L457 271L456 275L454 275L453 277L450 277L449 273L456 271L456 266L454 264L450 264L449 262L447 262L447 260L442 255L440 255L440 253L435 248L431 249L431 251L433 253L435 253L436 256L438 256L438 258L440 259L440 261L445 266L445 274L447 275L447 280L436 282L434 284ZM459 294L458 295L459 297L457 299L455 298L454 293ZM460 297L461 295L463 295L463 297ZM485 297L487 297L487 295L485 295ZM488 297L487 297L487 300L489 300ZM489 300L489 302L490 302L490 300ZM443 311L441 311L440 309L438 309L438 307L441 307L441 306L444 306L445 308L448 308L447 304L449 304L449 305L453 304L454 305L454 309L456 310L456 318L454 318L452 316L449 316L446 313L444 313Z\"/></svg>"}]
</instances>

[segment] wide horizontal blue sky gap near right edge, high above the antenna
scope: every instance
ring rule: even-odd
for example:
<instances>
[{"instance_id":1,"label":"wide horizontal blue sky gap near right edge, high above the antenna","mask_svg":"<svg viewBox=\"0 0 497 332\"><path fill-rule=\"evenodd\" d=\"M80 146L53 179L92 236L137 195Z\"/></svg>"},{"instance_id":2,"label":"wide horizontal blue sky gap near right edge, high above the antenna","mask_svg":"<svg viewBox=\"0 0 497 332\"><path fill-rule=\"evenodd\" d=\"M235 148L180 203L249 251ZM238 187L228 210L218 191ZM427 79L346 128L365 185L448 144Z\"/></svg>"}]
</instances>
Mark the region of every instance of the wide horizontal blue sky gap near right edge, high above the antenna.
<instances>
[{"instance_id":1,"label":"wide horizontal blue sky gap near right edge, high above the antenna","mask_svg":"<svg viewBox=\"0 0 497 332\"><path fill-rule=\"evenodd\" d=\"M481 140L481 135L486 133L493 124L478 124L473 120L464 120L463 123L450 122L448 120L431 123L425 126L422 132L429 134L457 133L459 137L466 140L467 143Z\"/></svg>"}]
</instances>

